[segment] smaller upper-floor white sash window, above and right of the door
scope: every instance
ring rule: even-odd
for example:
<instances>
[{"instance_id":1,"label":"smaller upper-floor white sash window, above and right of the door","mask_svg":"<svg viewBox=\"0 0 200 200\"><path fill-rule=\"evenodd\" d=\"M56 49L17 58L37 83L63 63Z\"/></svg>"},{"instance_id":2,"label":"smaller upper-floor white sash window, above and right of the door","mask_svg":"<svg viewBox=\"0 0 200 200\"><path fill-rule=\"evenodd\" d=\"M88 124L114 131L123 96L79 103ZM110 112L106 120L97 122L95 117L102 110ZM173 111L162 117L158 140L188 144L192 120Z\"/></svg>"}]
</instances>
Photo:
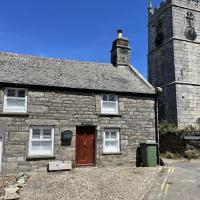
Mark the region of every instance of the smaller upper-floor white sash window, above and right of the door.
<instances>
[{"instance_id":1,"label":"smaller upper-floor white sash window, above and right of the door","mask_svg":"<svg viewBox=\"0 0 200 200\"><path fill-rule=\"evenodd\" d=\"M101 100L101 113L118 114L118 97L112 94L103 94Z\"/></svg>"}]
</instances>

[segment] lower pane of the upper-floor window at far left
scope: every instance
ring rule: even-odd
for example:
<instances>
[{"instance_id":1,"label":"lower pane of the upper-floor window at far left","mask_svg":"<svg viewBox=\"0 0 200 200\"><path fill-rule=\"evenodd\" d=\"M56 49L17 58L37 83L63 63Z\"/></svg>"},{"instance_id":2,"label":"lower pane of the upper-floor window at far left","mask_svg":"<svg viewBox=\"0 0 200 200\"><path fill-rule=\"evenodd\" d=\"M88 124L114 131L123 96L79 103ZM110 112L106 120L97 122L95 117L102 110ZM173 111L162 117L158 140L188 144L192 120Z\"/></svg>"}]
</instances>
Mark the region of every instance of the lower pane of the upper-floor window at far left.
<instances>
[{"instance_id":1,"label":"lower pane of the upper-floor window at far left","mask_svg":"<svg viewBox=\"0 0 200 200\"><path fill-rule=\"evenodd\" d=\"M25 110L25 99L7 98L9 110Z\"/></svg>"}]
</instances>

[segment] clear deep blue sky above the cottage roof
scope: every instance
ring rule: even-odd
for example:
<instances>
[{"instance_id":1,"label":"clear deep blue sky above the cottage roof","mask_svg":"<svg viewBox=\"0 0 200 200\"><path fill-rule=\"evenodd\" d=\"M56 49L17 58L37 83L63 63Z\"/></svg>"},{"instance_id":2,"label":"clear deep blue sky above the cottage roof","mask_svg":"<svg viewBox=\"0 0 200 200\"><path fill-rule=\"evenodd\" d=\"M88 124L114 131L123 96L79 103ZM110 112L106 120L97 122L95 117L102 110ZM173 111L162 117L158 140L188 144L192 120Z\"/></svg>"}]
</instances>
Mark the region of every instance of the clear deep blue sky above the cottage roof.
<instances>
[{"instance_id":1,"label":"clear deep blue sky above the cottage roof","mask_svg":"<svg viewBox=\"0 0 200 200\"><path fill-rule=\"evenodd\" d=\"M123 29L131 63L146 77L148 0L0 0L0 5L0 51L109 63L116 30Z\"/></svg>"}]
</instances>

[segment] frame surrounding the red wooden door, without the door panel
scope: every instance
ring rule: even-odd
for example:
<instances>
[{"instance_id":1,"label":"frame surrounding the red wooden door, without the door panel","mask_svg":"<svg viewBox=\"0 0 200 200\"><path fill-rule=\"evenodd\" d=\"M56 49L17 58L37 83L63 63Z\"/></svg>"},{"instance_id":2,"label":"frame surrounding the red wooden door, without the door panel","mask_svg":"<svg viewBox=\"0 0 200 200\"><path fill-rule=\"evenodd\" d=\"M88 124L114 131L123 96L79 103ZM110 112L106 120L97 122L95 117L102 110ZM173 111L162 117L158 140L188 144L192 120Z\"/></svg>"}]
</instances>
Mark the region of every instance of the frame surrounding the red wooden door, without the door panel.
<instances>
[{"instance_id":1,"label":"frame surrounding the red wooden door, without the door panel","mask_svg":"<svg viewBox=\"0 0 200 200\"><path fill-rule=\"evenodd\" d=\"M89 165L89 164L77 164L77 128L94 128L94 153L93 153L93 159L94 159L94 162L92 165ZM83 125L83 126L76 126L76 142L75 142L75 167L95 167L96 166L96 149L97 149L97 142L96 142L96 139L97 139L97 126L92 126L92 125Z\"/></svg>"}]
</instances>

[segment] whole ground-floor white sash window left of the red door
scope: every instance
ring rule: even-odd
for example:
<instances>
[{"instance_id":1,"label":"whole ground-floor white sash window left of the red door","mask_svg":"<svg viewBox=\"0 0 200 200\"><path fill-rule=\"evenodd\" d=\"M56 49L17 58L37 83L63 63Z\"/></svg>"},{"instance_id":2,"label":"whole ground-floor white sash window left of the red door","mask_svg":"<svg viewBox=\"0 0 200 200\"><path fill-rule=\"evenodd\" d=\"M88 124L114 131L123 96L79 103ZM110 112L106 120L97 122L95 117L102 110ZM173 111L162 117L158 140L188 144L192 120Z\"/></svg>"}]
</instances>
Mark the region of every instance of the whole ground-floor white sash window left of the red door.
<instances>
[{"instance_id":1,"label":"whole ground-floor white sash window left of the red door","mask_svg":"<svg viewBox=\"0 0 200 200\"><path fill-rule=\"evenodd\" d=\"M53 147L53 127L31 127L29 137L29 156L53 156Z\"/></svg>"}]
</instances>

